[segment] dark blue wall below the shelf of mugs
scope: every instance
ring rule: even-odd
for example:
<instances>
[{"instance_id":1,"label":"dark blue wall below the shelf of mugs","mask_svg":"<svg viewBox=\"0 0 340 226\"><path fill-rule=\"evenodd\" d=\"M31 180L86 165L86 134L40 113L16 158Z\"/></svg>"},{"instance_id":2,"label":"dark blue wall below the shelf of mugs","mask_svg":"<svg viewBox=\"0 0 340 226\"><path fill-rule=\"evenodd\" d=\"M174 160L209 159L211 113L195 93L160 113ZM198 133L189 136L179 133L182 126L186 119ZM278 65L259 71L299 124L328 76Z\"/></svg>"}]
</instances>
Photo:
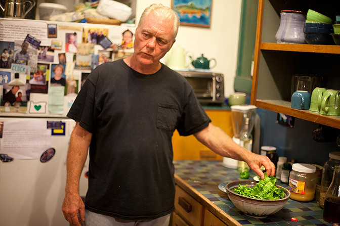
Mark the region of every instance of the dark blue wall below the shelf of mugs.
<instances>
[{"instance_id":1,"label":"dark blue wall below the shelf of mugs","mask_svg":"<svg viewBox=\"0 0 340 226\"><path fill-rule=\"evenodd\" d=\"M277 113L258 109L261 118L260 145L274 146L279 156L288 160L322 165L329 159L329 152L339 152L336 142L314 141L312 132L319 124L295 118L293 128L276 123Z\"/></svg>"}]
</instances>

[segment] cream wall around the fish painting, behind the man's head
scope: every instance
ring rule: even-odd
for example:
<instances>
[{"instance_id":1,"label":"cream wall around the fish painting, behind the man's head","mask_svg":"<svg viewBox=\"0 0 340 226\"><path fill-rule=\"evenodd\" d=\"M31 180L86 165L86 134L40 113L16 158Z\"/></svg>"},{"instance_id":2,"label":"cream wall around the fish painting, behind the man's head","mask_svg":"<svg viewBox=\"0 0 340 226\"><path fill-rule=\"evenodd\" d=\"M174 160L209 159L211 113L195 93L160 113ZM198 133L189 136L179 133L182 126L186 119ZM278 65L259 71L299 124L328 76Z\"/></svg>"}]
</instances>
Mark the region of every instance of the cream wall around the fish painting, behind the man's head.
<instances>
[{"instance_id":1,"label":"cream wall around the fish painting, behind the man's head","mask_svg":"<svg viewBox=\"0 0 340 226\"><path fill-rule=\"evenodd\" d=\"M171 0L137 0L136 24L149 5L161 3L171 7L171 2ZM210 28L182 25L174 44L192 51L195 59L201 54L208 59L216 59L217 66L212 71L224 74L225 97L234 92L241 2L241 0L213 0ZM161 60L162 63L166 63L166 58L167 55Z\"/></svg>"}]
</instances>

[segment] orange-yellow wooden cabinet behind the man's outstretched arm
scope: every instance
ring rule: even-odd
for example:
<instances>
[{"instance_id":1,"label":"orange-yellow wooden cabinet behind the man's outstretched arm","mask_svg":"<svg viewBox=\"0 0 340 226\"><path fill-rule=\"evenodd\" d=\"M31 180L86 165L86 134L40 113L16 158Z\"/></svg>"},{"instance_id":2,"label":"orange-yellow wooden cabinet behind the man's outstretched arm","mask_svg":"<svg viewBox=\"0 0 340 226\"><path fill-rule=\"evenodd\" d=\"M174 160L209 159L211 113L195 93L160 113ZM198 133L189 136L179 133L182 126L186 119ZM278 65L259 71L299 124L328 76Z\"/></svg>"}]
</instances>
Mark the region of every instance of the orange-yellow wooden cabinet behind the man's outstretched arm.
<instances>
[{"instance_id":1,"label":"orange-yellow wooden cabinet behind the man's outstretched arm","mask_svg":"<svg viewBox=\"0 0 340 226\"><path fill-rule=\"evenodd\" d=\"M220 127L230 137L234 133L230 110L205 110L212 124ZM176 130L173 135L174 160L222 160L223 157L202 145L193 135L182 137Z\"/></svg>"}]
</instances>

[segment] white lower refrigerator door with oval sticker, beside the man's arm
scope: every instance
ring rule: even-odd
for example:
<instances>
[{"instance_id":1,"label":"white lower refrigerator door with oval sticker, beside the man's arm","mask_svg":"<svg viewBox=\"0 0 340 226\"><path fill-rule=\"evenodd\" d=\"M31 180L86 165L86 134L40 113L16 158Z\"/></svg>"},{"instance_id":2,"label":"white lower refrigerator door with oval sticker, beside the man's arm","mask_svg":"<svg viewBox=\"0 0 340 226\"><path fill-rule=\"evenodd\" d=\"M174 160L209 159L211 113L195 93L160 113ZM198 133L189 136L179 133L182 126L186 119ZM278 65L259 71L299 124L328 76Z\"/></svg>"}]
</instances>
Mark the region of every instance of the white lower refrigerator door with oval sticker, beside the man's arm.
<instances>
[{"instance_id":1,"label":"white lower refrigerator door with oval sticker, beside the man's arm","mask_svg":"<svg viewBox=\"0 0 340 226\"><path fill-rule=\"evenodd\" d=\"M0 118L7 120L58 120L31 118ZM0 219L1 225L69 225L61 211L66 185L66 156L70 135L75 125L71 119L65 122L65 135L52 135L55 155L47 162L40 159L14 159L0 161ZM0 139L2 142L2 139ZM0 153L2 151L0 150ZM10 155L9 155L10 156ZM89 159L80 176L80 195L88 189Z\"/></svg>"}]
</instances>

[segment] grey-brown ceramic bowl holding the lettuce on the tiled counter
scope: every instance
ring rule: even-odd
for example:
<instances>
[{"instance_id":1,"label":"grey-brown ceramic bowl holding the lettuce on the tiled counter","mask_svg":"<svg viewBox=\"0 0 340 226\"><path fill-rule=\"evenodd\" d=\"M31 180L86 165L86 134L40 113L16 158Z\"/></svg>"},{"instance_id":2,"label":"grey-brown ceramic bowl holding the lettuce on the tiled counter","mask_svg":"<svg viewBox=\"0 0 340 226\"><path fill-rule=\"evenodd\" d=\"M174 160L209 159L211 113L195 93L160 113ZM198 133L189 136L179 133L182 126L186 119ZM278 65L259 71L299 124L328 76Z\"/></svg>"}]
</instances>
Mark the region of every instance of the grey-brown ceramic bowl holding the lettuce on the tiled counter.
<instances>
[{"instance_id":1,"label":"grey-brown ceramic bowl holding the lettuce on the tiled counter","mask_svg":"<svg viewBox=\"0 0 340 226\"><path fill-rule=\"evenodd\" d=\"M239 185L247 185L248 187L254 187L257 184L254 180L239 180L236 182L231 182L226 185L226 190L230 201L235 205L235 207L241 210L245 215L265 218L271 214L278 212L287 203L290 192L278 185L278 188L284 189L284 198L276 200L266 200L266 199L254 199L246 196L236 194L234 192L235 188Z\"/></svg>"}]
</instances>

